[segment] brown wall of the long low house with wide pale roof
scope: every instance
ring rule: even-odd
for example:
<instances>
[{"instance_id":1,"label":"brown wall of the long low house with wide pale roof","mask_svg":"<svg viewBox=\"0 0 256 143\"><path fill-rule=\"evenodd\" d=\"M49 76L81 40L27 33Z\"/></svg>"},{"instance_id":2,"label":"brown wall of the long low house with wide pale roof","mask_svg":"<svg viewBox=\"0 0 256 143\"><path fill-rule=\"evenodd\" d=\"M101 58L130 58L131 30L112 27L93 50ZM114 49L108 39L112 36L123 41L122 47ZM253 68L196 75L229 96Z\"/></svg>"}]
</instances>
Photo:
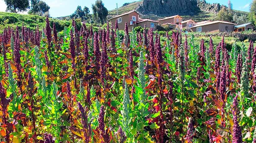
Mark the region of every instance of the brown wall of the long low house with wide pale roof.
<instances>
[{"instance_id":1,"label":"brown wall of the long low house with wide pale roof","mask_svg":"<svg viewBox=\"0 0 256 143\"><path fill-rule=\"evenodd\" d=\"M226 23L213 23L209 25L203 25L202 32L225 32L225 27L228 26L228 32L234 31L233 24L226 24ZM191 28L191 31L196 32L196 28Z\"/></svg>"}]
</instances>

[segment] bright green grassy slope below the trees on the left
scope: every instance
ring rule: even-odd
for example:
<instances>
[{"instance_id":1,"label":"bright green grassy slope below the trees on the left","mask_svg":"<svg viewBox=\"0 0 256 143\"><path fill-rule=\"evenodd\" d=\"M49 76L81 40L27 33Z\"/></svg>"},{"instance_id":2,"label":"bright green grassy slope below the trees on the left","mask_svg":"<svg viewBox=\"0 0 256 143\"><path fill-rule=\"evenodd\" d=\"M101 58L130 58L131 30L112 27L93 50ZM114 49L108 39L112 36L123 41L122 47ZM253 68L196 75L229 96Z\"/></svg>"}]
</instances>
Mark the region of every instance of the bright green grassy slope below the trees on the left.
<instances>
[{"instance_id":1,"label":"bright green grassy slope below the trees on the left","mask_svg":"<svg viewBox=\"0 0 256 143\"><path fill-rule=\"evenodd\" d=\"M70 21L50 19L50 24L56 24L57 31L61 31L65 26L70 25ZM9 12L0 12L0 33L5 27L22 27L22 23L30 29L34 29L37 25L40 29L45 27L45 17L38 15L22 15Z\"/></svg>"}]
</instances>

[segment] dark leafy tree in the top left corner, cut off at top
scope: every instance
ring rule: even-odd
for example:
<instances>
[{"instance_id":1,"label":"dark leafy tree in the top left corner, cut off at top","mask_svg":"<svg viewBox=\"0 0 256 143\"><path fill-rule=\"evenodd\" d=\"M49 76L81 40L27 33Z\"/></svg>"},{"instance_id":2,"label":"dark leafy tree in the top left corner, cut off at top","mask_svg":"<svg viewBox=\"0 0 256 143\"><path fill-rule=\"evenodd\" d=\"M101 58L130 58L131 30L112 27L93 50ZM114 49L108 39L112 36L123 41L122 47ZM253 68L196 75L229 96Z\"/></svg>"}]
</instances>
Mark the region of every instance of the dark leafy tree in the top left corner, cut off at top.
<instances>
[{"instance_id":1,"label":"dark leafy tree in the top left corner, cut off at top","mask_svg":"<svg viewBox=\"0 0 256 143\"><path fill-rule=\"evenodd\" d=\"M4 0L7 5L6 11L17 13L30 8L29 0Z\"/></svg>"}]
</instances>

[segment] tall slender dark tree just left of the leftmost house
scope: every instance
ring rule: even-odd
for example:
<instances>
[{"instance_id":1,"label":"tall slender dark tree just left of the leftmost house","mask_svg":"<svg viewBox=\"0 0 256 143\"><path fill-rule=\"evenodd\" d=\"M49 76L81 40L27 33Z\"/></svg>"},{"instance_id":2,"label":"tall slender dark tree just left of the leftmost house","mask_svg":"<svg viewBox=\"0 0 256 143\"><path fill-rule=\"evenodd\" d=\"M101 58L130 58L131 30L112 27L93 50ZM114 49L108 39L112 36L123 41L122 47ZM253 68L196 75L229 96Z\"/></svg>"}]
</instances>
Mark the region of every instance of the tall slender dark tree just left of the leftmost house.
<instances>
[{"instance_id":1,"label":"tall slender dark tree just left of the leftmost house","mask_svg":"<svg viewBox=\"0 0 256 143\"><path fill-rule=\"evenodd\" d=\"M92 4L92 9L94 18L98 18L101 24L104 24L107 19L108 11L107 8L104 7L103 2L101 0L96 0L95 4Z\"/></svg>"}]
</instances>

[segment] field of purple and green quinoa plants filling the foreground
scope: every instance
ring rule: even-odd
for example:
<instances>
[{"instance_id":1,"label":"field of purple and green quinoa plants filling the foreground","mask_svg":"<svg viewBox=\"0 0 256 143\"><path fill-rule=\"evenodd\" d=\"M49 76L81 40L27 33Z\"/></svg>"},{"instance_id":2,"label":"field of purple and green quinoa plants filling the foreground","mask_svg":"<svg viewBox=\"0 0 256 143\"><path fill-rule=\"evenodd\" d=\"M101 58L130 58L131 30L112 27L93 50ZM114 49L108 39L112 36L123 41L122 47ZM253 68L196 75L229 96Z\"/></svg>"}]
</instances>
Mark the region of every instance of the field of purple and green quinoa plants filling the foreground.
<instances>
[{"instance_id":1,"label":"field of purple and green quinoa plants filling the foreground","mask_svg":"<svg viewBox=\"0 0 256 143\"><path fill-rule=\"evenodd\" d=\"M256 143L253 41L77 24L0 34L0 143Z\"/></svg>"}]
</instances>

